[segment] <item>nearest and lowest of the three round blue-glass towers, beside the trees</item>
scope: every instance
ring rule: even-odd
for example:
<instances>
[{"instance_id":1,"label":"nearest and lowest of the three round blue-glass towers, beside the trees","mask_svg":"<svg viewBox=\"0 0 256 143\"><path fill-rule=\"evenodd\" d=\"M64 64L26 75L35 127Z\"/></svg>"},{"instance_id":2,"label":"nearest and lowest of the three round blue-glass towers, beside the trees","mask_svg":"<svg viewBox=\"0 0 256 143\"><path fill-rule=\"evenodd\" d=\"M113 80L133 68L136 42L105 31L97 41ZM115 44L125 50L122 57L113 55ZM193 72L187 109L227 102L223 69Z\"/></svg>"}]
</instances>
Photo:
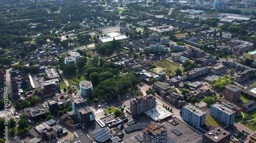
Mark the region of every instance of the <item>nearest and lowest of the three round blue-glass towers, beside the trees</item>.
<instances>
[{"instance_id":1,"label":"nearest and lowest of the three round blue-glass towers, beside the trees","mask_svg":"<svg viewBox=\"0 0 256 143\"><path fill-rule=\"evenodd\" d=\"M93 84L90 81L83 80L79 83L80 94L83 98L89 97L93 91Z\"/></svg>"}]
</instances>

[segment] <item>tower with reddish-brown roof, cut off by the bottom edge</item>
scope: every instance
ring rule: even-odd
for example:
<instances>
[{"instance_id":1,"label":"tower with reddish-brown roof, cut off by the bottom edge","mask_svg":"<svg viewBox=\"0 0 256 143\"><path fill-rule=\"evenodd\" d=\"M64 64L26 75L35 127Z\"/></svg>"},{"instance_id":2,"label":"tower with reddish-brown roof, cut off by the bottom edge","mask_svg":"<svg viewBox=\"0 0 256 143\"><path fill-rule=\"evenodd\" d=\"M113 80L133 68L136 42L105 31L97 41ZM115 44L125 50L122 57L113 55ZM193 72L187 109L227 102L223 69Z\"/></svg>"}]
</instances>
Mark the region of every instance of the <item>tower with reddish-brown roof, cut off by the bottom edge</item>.
<instances>
[{"instance_id":1,"label":"tower with reddish-brown roof, cut off by the bottom edge","mask_svg":"<svg viewBox=\"0 0 256 143\"><path fill-rule=\"evenodd\" d=\"M167 130L160 123L153 123L148 125L146 129L142 130L143 143L167 143Z\"/></svg>"}]
</instances>

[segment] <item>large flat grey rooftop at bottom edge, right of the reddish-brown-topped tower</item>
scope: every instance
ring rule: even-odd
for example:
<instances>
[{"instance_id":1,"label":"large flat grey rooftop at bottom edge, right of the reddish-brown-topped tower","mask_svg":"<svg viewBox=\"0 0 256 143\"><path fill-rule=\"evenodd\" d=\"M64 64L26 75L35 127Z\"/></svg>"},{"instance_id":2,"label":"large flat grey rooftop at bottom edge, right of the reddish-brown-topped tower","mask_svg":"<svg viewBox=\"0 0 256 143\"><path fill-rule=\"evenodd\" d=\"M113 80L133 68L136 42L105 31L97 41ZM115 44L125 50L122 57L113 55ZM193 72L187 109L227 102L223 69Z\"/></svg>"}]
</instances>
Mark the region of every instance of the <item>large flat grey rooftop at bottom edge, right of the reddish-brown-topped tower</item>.
<instances>
[{"instance_id":1,"label":"large flat grey rooftop at bottom edge, right of the reddish-brown-topped tower","mask_svg":"<svg viewBox=\"0 0 256 143\"><path fill-rule=\"evenodd\" d=\"M175 123L175 124L173 124ZM184 142L203 142L202 134L187 126L185 123L177 118L174 118L170 122L161 123L168 132L168 142L184 143ZM179 133L179 134L177 134ZM180 134L181 133L181 134Z\"/></svg>"}]
</instances>

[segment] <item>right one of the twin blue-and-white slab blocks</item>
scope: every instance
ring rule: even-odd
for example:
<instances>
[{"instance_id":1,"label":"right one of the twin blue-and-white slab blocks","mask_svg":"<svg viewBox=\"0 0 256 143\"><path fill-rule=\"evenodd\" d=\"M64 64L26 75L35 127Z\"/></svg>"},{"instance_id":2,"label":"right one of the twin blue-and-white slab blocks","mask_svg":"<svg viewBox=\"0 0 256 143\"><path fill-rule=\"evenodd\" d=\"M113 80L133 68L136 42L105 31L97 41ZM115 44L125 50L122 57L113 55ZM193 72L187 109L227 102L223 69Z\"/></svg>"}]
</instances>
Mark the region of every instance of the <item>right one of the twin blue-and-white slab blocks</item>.
<instances>
[{"instance_id":1,"label":"right one of the twin blue-and-white slab blocks","mask_svg":"<svg viewBox=\"0 0 256 143\"><path fill-rule=\"evenodd\" d=\"M236 116L236 111L227 108L218 102L210 106L210 115L212 118L218 119L228 127L234 123L234 117Z\"/></svg>"}]
</instances>

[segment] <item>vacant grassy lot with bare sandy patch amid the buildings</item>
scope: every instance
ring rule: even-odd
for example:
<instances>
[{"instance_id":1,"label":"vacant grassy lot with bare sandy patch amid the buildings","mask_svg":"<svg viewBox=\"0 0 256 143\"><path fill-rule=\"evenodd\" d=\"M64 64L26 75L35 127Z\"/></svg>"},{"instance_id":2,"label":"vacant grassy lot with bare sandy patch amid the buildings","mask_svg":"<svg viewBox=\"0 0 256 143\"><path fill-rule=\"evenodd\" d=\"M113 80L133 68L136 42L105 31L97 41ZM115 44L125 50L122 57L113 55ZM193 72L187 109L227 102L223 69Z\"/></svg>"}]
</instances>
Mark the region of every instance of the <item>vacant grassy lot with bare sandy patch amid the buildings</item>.
<instances>
[{"instance_id":1,"label":"vacant grassy lot with bare sandy patch amid the buildings","mask_svg":"<svg viewBox=\"0 0 256 143\"><path fill-rule=\"evenodd\" d=\"M164 71L166 75L175 75L175 70L179 68L181 71L183 71L183 67L181 67L179 64L172 63L169 60L160 60L157 62L154 62L153 65L156 66L156 68L150 69L150 71L159 73L160 71Z\"/></svg>"}]
</instances>

